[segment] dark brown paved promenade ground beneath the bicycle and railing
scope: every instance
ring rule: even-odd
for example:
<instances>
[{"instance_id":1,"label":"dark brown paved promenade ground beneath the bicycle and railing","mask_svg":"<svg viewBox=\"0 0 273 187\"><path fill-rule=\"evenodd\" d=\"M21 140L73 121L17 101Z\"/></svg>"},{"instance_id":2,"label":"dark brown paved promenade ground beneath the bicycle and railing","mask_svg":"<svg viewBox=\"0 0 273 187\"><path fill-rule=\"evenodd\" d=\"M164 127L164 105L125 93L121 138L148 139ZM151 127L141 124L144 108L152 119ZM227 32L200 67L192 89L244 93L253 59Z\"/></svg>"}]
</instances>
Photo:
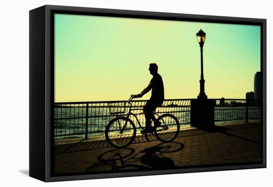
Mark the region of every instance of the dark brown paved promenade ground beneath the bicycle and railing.
<instances>
[{"instance_id":1,"label":"dark brown paved promenade ground beneath the bicycle and railing","mask_svg":"<svg viewBox=\"0 0 273 187\"><path fill-rule=\"evenodd\" d=\"M261 161L261 124L217 125L213 130L181 128L162 143L137 135L127 148L111 147L103 138L55 141L55 174L119 170L168 169Z\"/></svg>"}]
</instances>

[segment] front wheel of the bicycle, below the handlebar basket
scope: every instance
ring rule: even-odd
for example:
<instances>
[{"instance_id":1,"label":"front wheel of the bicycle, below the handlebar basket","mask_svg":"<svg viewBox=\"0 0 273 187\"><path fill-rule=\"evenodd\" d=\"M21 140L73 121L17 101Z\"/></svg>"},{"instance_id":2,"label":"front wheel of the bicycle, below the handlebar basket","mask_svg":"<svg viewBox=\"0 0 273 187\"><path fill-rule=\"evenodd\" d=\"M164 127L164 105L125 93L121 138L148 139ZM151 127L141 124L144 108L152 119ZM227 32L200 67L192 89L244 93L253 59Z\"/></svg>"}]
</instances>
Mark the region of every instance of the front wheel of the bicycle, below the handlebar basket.
<instances>
[{"instance_id":1,"label":"front wheel of the bicycle, below the handlebar basket","mask_svg":"<svg viewBox=\"0 0 273 187\"><path fill-rule=\"evenodd\" d=\"M127 147L136 138L136 126L134 122L127 117L114 118L106 126L105 138L113 147Z\"/></svg>"}]
</instances>

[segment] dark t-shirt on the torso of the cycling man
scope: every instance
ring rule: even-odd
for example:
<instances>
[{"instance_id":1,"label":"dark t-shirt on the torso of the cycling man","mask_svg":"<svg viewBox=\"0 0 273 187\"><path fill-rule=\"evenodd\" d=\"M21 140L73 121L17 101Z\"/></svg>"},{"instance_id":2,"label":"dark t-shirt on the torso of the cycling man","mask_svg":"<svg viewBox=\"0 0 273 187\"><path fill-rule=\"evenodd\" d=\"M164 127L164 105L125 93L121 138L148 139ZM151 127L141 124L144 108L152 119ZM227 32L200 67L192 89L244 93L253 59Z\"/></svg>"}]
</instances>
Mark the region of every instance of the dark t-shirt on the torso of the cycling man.
<instances>
[{"instance_id":1,"label":"dark t-shirt on the torso of the cycling man","mask_svg":"<svg viewBox=\"0 0 273 187\"><path fill-rule=\"evenodd\" d=\"M162 77L157 73L153 76L150 83L152 84L152 94L150 100L155 100L162 104L164 100L164 86Z\"/></svg>"}]
</instances>

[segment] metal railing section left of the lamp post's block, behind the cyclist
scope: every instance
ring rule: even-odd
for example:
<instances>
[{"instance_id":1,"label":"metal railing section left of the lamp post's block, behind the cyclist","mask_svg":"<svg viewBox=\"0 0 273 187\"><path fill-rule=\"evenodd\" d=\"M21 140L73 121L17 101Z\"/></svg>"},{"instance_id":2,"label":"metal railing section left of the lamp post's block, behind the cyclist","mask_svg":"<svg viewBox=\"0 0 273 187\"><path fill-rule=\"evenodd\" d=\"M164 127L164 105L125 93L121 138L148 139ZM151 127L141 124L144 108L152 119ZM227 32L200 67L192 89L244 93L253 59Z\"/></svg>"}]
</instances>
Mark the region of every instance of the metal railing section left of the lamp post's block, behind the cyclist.
<instances>
[{"instance_id":1,"label":"metal railing section left of the lamp post's block, behind the cyclist","mask_svg":"<svg viewBox=\"0 0 273 187\"><path fill-rule=\"evenodd\" d=\"M141 125L145 124L142 111L146 100L132 101L132 112ZM180 125L190 124L190 99L166 99L157 107L156 114L170 113L177 117ZM106 125L115 117L126 116L127 101L58 102L54 103L54 136L74 136L102 133ZM140 128L136 118L130 115L136 128Z\"/></svg>"}]
</instances>

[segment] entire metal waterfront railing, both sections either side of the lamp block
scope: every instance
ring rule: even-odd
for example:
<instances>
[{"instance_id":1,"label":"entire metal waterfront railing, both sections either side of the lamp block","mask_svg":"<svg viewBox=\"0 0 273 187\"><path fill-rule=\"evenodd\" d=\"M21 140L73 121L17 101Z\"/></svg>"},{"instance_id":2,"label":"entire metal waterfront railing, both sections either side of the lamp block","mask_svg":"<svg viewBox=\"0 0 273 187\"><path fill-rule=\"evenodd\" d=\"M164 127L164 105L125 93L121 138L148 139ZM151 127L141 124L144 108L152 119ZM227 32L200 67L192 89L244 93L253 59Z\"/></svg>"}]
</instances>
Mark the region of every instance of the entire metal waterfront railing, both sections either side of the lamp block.
<instances>
[{"instance_id":1,"label":"entire metal waterfront railing, both sections either side of the lamp block","mask_svg":"<svg viewBox=\"0 0 273 187\"><path fill-rule=\"evenodd\" d=\"M146 100L132 101L132 112L141 125L145 117L141 110ZM129 110L127 101L95 102L56 102L54 103L54 136L96 135L105 131L106 125L117 115L126 116ZM191 99L166 99L155 112L157 115L170 113L177 117L180 125L191 124ZM215 99L214 121L260 119L261 106L258 100ZM130 119L139 128L136 118Z\"/></svg>"}]
</instances>

